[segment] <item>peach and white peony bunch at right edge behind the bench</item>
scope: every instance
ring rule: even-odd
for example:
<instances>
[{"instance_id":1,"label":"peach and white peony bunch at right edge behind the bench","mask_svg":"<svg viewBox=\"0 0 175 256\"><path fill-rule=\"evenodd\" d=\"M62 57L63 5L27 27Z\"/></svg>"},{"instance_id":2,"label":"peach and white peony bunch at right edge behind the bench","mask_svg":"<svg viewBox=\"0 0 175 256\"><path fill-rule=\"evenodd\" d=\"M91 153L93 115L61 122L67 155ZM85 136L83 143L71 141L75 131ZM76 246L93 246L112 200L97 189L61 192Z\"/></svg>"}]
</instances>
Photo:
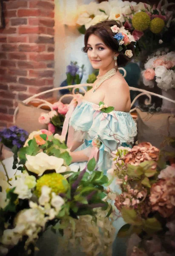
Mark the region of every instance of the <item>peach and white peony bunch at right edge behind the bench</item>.
<instances>
[{"instance_id":1,"label":"peach and white peony bunch at right edge behind the bench","mask_svg":"<svg viewBox=\"0 0 175 256\"><path fill-rule=\"evenodd\" d=\"M157 51L158 55L149 57L142 72L143 83L154 87L155 82L162 90L175 88L175 52Z\"/></svg>"}]
</instances>

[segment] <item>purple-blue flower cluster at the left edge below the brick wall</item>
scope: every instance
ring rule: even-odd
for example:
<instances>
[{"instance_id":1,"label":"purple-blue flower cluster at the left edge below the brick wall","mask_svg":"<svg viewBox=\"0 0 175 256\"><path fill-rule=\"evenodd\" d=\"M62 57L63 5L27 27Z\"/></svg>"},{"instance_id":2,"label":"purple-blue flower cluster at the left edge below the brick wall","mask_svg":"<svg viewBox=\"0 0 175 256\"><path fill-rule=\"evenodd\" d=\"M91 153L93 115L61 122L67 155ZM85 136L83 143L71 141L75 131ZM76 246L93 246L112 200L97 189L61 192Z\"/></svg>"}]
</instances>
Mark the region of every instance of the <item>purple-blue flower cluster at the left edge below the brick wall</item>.
<instances>
[{"instance_id":1,"label":"purple-blue flower cluster at the left edge below the brick wall","mask_svg":"<svg viewBox=\"0 0 175 256\"><path fill-rule=\"evenodd\" d=\"M27 137L28 132L17 126L4 128L0 131L0 142L8 148L13 148L14 145L16 145L17 148L23 147Z\"/></svg>"}]
</instances>

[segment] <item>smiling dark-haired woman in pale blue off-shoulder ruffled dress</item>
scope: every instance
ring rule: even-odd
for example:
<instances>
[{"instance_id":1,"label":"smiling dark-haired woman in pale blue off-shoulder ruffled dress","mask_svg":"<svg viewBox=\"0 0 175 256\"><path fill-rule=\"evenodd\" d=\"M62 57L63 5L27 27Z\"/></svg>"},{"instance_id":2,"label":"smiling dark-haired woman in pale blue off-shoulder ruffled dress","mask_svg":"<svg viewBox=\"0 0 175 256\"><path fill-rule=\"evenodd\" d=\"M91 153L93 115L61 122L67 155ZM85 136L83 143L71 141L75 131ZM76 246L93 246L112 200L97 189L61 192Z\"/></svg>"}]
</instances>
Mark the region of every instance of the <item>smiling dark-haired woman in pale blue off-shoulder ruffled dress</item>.
<instances>
[{"instance_id":1,"label":"smiling dark-haired woman in pale blue off-shoulder ruffled dress","mask_svg":"<svg viewBox=\"0 0 175 256\"><path fill-rule=\"evenodd\" d=\"M137 132L129 113L129 86L118 70L131 59L133 41L132 35L124 27L119 28L115 20L105 20L86 31L83 51L92 67L99 69L99 76L76 108L69 109L63 125L65 136L69 122L68 146L73 141L70 167L74 171L83 169L94 156L98 169L106 173L112 164L111 152L133 143ZM114 110L104 113L109 106Z\"/></svg>"}]
</instances>

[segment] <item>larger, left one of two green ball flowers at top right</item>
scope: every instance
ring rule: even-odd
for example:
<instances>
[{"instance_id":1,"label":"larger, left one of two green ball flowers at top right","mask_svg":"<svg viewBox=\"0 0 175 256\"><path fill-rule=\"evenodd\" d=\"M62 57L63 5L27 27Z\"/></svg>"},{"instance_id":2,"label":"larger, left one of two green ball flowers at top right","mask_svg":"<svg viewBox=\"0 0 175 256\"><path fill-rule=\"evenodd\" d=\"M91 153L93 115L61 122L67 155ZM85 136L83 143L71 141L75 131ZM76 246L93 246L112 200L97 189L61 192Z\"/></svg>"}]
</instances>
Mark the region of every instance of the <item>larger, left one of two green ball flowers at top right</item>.
<instances>
[{"instance_id":1,"label":"larger, left one of two green ball flowers at top right","mask_svg":"<svg viewBox=\"0 0 175 256\"><path fill-rule=\"evenodd\" d=\"M132 25L138 31L148 29L150 24L150 17L146 12L138 12L132 18Z\"/></svg>"}]
</instances>

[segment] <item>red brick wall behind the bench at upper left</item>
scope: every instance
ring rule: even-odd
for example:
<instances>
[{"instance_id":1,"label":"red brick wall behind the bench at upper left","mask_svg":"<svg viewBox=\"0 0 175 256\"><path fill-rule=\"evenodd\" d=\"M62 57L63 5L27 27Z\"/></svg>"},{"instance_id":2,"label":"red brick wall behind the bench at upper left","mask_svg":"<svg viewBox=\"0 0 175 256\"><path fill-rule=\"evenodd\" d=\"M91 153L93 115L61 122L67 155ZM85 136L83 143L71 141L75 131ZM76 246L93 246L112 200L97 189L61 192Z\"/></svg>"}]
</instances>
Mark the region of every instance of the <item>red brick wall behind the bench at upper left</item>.
<instances>
[{"instance_id":1,"label":"red brick wall behind the bench at upper left","mask_svg":"<svg viewBox=\"0 0 175 256\"><path fill-rule=\"evenodd\" d=\"M53 88L54 0L6 0L0 29L0 127L17 101ZM51 95L46 95L47 97Z\"/></svg>"}]
</instances>

